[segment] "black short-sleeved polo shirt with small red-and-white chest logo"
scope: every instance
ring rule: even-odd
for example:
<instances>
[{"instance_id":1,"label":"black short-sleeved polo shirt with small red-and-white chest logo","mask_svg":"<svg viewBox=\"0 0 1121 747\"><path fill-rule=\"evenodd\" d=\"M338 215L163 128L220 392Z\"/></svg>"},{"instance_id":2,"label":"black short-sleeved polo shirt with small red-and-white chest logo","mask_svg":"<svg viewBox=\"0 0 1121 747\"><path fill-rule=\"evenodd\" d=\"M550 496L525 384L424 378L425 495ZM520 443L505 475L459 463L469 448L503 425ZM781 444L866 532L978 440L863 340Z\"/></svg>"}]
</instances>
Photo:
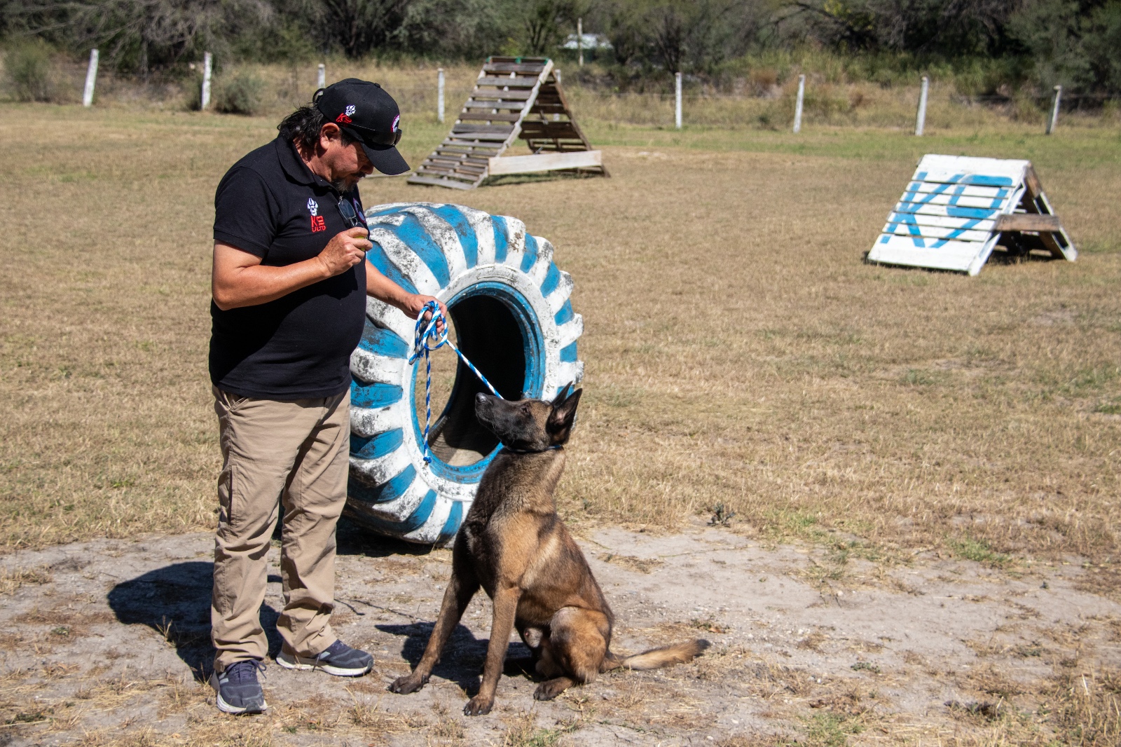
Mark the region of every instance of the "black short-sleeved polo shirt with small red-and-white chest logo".
<instances>
[{"instance_id":1,"label":"black short-sleeved polo shirt with small red-and-white chest logo","mask_svg":"<svg viewBox=\"0 0 1121 747\"><path fill-rule=\"evenodd\" d=\"M234 164L214 195L214 240L281 267L317 256L350 228L340 194L277 138ZM350 386L350 354L362 336L365 262L257 306L222 311L211 302L211 381L266 399L331 397Z\"/></svg>"}]
</instances>

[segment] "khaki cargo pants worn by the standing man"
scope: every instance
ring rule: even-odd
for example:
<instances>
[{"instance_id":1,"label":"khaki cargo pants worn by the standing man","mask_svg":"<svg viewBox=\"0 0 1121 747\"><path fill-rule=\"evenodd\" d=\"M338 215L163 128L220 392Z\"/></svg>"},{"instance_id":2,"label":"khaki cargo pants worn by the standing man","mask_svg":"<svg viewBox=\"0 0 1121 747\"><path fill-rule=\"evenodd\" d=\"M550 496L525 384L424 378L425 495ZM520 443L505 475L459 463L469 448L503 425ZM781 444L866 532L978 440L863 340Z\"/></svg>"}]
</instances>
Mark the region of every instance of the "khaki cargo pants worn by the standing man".
<instances>
[{"instance_id":1,"label":"khaki cargo pants worn by the standing man","mask_svg":"<svg viewBox=\"0 0 1121 747\"><path fill-rule=\"evenodd\" d=\"M260 608L281 501L285 606L277 630L286 651L315 656L336 639L330 619L335 525L346 502L350 390L279 402L215 388L214 412L222 448L211 602L214 668L268 654Z\"/></svg>"}]
</instances>

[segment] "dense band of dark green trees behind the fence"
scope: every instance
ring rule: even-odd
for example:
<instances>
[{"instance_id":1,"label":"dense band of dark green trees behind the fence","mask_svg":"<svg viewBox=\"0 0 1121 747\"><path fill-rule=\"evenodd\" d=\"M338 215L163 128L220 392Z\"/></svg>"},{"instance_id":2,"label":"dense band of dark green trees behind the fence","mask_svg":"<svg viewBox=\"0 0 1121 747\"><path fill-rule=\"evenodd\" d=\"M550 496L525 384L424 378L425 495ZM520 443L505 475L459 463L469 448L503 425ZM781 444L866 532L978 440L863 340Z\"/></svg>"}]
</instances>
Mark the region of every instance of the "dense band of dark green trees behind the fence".
<instances>
[{"instance_id":1,"label":"dense band of dark green trees behind the fence","mask_svg":"<svg viewBox=\"0 0 1121 747\"><path fill-rule=\"evenodd\" d=\"M612 89L664 89L677 71L767 87L812 70L884 86L926 74L1004 100L1059 83L1121 94L1121 0L0 0L0 35L75 57L98 46L103 64L141 76L187 75L203 50L224 64L544 54L572 70L559 45L576 18L610 42L587 52L595 80L584 75ZM252 101L242 83L239 109Z\"/></svg>"}]
</instances>

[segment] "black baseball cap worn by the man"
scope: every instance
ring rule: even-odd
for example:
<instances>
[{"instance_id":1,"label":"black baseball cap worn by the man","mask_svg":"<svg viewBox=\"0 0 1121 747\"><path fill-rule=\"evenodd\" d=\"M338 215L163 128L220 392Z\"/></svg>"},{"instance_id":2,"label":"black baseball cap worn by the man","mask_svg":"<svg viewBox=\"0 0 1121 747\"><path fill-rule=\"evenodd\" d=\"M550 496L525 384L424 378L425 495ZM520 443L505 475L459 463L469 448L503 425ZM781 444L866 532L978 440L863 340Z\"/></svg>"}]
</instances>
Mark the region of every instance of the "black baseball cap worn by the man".
<instances>
[{"instance_id":1,"label":"black baseball cap worn by the man","mask_svg":"<svg viewBox=\"0 0 1121 747\"><path fill-rule=\"evenodd\" d=\"M397 153L401 110L377 83L348 77L315 92L312 101L328 122L362 144L365 157L382 174L404 174L409 165Z\"/></svg>"}]
</instances>

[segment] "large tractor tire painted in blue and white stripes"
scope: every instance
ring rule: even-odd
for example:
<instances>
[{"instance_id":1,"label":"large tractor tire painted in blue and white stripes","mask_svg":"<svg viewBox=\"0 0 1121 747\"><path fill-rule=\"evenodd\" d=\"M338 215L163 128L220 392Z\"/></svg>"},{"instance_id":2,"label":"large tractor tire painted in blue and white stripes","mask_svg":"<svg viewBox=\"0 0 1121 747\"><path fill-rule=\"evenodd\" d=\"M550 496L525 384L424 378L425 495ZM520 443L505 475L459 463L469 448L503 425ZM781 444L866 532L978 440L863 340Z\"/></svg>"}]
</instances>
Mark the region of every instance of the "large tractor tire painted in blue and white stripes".
<instances>
[{"instance_id":1,"label":"large tractor tire painted in blue and white stripes","mask_svg":"<svg viewBox=\"0 0 1121 747\"><path fill-rule=\"evenodd\" d=\"M521 221L427 202L377 205L367 220L373 266L447 305L460 349L504 398L552 398L583 378L576 340L584 322L568 301L572 278L553 262L553 245L527 234ZM348 514L385 535L439 544L458 531L499 443L475 419L475 395L487 389L458 361L425 463L425 413L414 406L425 365L408 362L415 325L368 299L351 356Z\"/></svg>"}]
</instances>

